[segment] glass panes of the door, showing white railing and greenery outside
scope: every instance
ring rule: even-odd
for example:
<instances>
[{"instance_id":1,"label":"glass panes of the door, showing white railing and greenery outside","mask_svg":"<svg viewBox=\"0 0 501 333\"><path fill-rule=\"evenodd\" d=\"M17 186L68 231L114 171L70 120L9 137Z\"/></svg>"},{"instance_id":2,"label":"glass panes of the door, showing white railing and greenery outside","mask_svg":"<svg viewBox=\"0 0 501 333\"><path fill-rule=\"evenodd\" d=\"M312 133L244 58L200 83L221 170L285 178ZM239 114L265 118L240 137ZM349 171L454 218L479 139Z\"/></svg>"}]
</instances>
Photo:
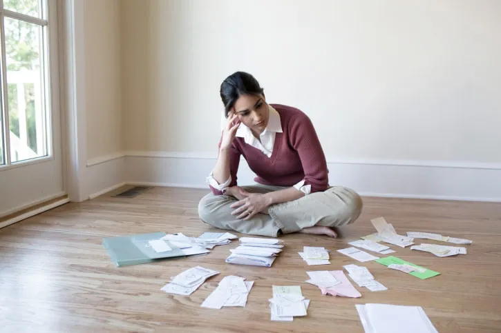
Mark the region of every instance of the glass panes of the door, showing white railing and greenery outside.
<instances>
[{"instance_id":1,"label":"glass panes of the door, showing white railing and greenery outside","mask_svg":"<svg viewBox=\"0 0 501 333\"><path fill-rule=\"evenodd\" d=\"M46 0L0 0L0 24L5 167L50 155Z\"/></svg>"}]
</instances>

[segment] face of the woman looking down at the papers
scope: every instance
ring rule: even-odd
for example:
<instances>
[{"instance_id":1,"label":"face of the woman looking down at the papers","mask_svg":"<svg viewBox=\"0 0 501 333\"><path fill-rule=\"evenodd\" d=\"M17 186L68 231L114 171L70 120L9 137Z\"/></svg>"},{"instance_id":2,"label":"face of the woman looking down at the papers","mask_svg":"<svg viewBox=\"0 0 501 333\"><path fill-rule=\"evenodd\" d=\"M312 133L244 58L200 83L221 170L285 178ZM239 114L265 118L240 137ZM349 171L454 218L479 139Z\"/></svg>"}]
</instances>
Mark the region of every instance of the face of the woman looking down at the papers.
<instances>
[{"instance_id":1,"label":"face of the woman looking down at the papers","mask_svg":"<svg viewBox=\"0 0 501 333\"><path fill-rule=\"evenodd\" d=\"M238 120L252 130L261 134L268 125L270 112L263 95L242 95L234 104Z\"/></svg>"}]
</instances>

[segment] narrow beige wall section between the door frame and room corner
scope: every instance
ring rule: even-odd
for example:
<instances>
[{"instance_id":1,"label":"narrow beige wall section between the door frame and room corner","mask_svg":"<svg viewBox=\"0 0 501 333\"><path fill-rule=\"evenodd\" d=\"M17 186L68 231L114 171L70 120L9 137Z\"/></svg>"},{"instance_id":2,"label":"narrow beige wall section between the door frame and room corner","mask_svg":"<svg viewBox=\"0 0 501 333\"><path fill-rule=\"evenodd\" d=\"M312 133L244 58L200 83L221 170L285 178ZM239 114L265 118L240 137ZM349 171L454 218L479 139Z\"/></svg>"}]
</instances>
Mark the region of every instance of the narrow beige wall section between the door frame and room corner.
<instances>
[{"instance_id":1,"label":"narrow beige wall section between the door frame and room corner","mask_svg":"<svg viewBox=\"0 0 501 333\"><path fill-rule=\"evenodd\" d=\"M85 0L87 157L91 164L122 148L120 0Z\"/></svg>"}]
</instances>

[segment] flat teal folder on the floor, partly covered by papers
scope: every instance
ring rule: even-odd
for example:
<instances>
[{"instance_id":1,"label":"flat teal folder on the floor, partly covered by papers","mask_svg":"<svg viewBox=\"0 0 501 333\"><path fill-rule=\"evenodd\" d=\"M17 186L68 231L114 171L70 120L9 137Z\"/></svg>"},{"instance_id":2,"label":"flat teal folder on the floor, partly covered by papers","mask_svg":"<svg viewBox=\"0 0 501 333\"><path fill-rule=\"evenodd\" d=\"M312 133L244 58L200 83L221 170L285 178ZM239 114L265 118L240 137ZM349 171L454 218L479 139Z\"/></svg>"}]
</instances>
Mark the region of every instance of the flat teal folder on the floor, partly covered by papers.
<instances>
[{"instance_id":1,"label":"flat teal folder on the floor, partly covered by papers","mask_svg":"<svg viewBox=\"0 0 501 333\"><path fill-rule=\"evenodd\" d=\"M117 267L153 263L162 259L185 256L180 248L169 241L165 241L165 243L169 245L171 251L156 252L153 250L148 241L161 239L163 236L165 236L165 232L105 237L102 245Z\"/></svg>"}]
</instances>

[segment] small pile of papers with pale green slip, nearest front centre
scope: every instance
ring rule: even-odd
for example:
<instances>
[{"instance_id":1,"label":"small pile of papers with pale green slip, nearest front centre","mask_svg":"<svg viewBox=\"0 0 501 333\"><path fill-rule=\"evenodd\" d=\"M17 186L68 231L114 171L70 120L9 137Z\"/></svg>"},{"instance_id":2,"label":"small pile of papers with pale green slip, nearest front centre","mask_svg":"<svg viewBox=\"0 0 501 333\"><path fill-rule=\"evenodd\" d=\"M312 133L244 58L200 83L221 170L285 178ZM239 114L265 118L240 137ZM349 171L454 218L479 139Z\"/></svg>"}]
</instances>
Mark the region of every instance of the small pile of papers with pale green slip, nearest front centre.
<instances>
[{"instance_id":1,"label":"small pile of papers with pale green slip, nearest front centre","mask_svg":"<svg viewBox=\"0 0 501 333\"><path fill-rule=\"evenodd\" d=\"M299 285L274 285L273 298L268 301L272 321L293 321L295 316L306 316L310 305Z\"/></svg>"}]
</instances>

